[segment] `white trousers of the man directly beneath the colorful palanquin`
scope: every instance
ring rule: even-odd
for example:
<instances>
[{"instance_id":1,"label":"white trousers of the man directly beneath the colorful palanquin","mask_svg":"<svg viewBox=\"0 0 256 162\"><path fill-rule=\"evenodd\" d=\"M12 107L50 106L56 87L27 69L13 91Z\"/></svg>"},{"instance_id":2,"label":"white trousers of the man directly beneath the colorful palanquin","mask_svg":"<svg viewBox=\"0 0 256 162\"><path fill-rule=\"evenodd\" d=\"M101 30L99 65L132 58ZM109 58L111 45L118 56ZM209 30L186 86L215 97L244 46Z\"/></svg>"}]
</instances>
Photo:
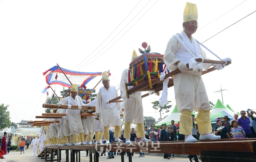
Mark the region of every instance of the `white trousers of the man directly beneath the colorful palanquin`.
<instances>
[{"instance_id":1,"label":"white trousers of the man directly beneath the colorful palanquin","mask_svg":"<svg viewBox=\"0 0 256 162\"><path fill-rule=\"evenodd\" d=\"M130 95L130 98L127 98L124 105L124 121L141 124L144 120L141 95Z\"/></svg>"}]
</instances>

